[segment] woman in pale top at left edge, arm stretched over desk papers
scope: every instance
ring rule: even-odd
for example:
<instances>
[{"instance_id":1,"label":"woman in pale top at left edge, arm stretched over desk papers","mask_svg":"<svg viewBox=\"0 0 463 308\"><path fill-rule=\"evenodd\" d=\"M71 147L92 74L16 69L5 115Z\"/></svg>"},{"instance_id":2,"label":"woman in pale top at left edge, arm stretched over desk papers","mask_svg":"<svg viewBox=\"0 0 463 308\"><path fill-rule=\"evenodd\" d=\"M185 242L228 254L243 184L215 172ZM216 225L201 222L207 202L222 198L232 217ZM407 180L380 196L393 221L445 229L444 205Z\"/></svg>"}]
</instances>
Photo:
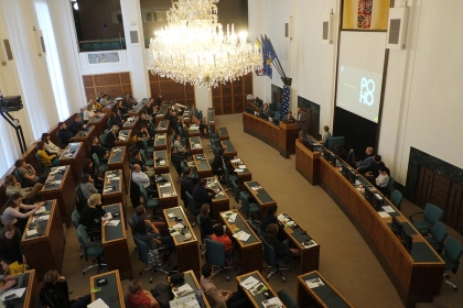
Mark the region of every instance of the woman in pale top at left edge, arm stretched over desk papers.
<instances>
[{"instance_id":1,"label":"woman in pale top at left edge, arm stretched over desk papers","mask_svg":"<svg viewBox=\"0 0 463 308\"><path fill-rule=\"evenodd\" d=\"M40 208L40 205L23 205L21 194L13 194L0 209L1 223L3 226L14 224L19 230L23 231L29 217L34 215ZM20 209L26 210L26 212L22 213L20 212Z\"/></svg>"}]
</instances>

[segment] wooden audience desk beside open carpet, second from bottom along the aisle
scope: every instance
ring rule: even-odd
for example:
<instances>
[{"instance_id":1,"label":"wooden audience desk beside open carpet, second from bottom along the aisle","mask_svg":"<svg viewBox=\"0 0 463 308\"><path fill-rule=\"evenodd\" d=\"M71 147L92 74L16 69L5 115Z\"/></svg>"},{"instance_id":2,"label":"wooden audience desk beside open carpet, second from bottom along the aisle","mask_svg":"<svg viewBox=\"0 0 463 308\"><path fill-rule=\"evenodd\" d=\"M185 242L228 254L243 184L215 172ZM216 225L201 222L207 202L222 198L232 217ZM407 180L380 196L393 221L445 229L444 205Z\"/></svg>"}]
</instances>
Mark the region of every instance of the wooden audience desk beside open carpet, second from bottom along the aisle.
<instances>
[{"instance_id":1,"label":"wooden audience desk beside open carpet, second from bottom along the aisle","mask_svg":"<svg viewBox=\"0 0 463 308\"><path fill-rule=\"evenodd\" d=\"M317 271L319 263L320 263L320 244L316 242L306 230L301 229L301 224L298 223L290 215L282 213L284 216L284 220L287 221L294 221L298 227L284 227L283 232L287 234L288 239L297 246L297 249L301 252L300 254L300 265L301 265L301 274ZM304 241L313 241L315 245L306 248L302 243Z\"/></svg>"}]
</instances>

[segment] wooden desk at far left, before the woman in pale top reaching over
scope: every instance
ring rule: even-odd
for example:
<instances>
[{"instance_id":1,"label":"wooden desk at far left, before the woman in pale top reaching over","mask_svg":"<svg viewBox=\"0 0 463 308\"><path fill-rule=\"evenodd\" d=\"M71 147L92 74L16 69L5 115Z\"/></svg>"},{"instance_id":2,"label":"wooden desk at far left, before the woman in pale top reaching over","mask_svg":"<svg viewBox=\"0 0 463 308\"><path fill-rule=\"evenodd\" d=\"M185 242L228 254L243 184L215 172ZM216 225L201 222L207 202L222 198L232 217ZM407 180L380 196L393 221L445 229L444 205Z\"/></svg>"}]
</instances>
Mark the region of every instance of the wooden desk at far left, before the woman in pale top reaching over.
<instances>
[{"instance_id":1,"label":"wooden desk at far left, before the woman in pale top reaching over","mask_svg":"<svg viewBox=\"0 0 463 308\"><path fill-rule=\"evenodd\" d=\"M22 234L21 245L24 254L28 256L28 265L34 268L40 280L43 279L50 268L62 273L64 248L66 239L63 232L63 222L61 220L60 208L56 200L47 200L43 205L50 212L50 218L43 220L46 215L30 216L25 230L35 230L35 223L42 227L42 233L28 235L25 231ZM41 219L42 218L42 219ZM35 222L35 223L34 223Z\"/></svg>"}]
</instances>

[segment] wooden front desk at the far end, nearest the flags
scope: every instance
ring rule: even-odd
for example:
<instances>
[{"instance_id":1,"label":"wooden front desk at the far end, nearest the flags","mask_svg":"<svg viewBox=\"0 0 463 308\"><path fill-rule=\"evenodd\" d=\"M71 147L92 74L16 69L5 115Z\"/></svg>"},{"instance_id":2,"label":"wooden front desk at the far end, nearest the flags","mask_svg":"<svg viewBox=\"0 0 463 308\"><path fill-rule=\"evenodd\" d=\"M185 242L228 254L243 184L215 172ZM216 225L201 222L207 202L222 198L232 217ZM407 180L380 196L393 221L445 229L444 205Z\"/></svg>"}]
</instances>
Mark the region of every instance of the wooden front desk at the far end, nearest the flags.
<instances>
[{"instance_id":1,"label":"wooden front desk at the far end, nearest the flags","mask_svg":"<svg viewBox=\"0 0 463 308\"><path fill-rule=\"evenodd\" d=\"M274 147L284 158L295 153L294 142L299 138L299 124L286 124L280 121L280 125L277 127L254 114L243 112L243 125L245 133Z\"/></svg>"}]
</instances>

